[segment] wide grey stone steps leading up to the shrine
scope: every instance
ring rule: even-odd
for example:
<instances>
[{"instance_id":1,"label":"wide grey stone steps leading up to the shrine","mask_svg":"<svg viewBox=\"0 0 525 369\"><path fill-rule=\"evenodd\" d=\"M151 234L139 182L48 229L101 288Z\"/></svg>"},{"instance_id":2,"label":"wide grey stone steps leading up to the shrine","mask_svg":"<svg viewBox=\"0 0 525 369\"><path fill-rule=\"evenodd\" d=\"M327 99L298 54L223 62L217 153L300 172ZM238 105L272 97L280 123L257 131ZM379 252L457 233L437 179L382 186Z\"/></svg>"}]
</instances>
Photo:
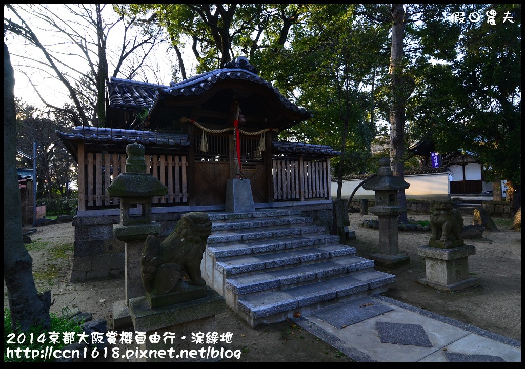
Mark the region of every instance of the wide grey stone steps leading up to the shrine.
<instances>
[{"instance_id":1,"label":"wide grey stone steps leading up to the shrine","mask_svg":"<svg viewBox=\"0 0 525 369\"><path fill-rule=\"evenodd\" d=\"M253 328L382 293L395 281L300 210L209 216L203 278Z\"/></svg>"}]
</instances>

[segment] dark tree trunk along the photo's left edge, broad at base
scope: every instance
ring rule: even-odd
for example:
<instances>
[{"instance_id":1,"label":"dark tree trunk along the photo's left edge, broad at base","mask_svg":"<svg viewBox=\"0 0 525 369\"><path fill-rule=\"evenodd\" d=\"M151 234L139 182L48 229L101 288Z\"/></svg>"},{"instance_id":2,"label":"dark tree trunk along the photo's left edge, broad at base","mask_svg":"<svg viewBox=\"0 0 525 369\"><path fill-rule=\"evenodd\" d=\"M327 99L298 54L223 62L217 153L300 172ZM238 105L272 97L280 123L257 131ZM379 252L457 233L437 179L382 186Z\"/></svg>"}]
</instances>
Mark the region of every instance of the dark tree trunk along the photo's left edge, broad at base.
<instances>
[{"instance_id":1,"label":"dark tree trunk along the photo's left edge, broad at base","mask_svg":"<svg viewBox=\"0 0 525 369\"><path fill-rule=\"evenodd\" d=\"M41 297L33 279L33 259L22 239L22 208L16 173L15 77L4 41L4 282L11 326L26 332L42 324L48 329L49 300ZM49 296L50 299L50 296Z\"/></svg>"}]
</instances>

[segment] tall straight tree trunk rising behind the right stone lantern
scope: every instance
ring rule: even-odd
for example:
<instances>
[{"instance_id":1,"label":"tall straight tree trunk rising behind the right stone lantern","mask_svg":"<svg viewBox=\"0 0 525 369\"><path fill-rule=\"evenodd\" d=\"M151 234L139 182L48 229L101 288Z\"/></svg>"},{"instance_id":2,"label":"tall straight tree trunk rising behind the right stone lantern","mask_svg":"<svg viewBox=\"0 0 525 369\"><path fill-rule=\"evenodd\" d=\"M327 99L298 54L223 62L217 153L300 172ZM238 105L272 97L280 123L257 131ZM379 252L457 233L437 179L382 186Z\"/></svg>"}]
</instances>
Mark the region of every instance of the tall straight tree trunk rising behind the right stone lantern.
<instances>
[{"instance_id":1,"label":"tall straight tree trunk rising behind the right stone lantern","mask_svg":"<svg viewBox=\"0 0 525 369\"><path fill-rule=\"evenodd\" d=\"M390 110L390 158L394 175L405 177L405 103L408 96L403 93L403 43L405 38L406 14L404 4L392 5L392 47L390 68L392 75L392 106ZM406 97L405 97L406 96ZM397 191L400 206L406 206L405 190ZM407 223L406 212L399 216L401 223Z\"/></svg>"}]
</instances>

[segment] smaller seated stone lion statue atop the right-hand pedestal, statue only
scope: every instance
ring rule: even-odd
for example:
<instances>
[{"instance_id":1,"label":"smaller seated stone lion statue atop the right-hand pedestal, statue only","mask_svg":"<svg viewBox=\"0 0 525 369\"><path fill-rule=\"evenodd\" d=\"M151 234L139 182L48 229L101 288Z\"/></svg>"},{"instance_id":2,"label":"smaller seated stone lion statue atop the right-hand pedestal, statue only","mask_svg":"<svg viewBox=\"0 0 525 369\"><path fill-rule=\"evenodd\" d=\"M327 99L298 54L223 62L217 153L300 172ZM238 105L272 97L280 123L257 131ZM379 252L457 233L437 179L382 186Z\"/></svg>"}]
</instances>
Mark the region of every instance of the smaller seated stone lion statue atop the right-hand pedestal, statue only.
<instances>
[{"instance_id":1,"label":"smaller seated stone lion statue atop the right-hand pedestal, statue only","mask_svg":"<svg viewBox=\"0 0 525 369\"><path fill-rule=\"evenodd\" d=\"M451 199L440 199L430 202L430 228L432 229L431 241L443 238L445 241L455 241L461 238L463 217L454 209Z\"/></svg>"}]
</instances>

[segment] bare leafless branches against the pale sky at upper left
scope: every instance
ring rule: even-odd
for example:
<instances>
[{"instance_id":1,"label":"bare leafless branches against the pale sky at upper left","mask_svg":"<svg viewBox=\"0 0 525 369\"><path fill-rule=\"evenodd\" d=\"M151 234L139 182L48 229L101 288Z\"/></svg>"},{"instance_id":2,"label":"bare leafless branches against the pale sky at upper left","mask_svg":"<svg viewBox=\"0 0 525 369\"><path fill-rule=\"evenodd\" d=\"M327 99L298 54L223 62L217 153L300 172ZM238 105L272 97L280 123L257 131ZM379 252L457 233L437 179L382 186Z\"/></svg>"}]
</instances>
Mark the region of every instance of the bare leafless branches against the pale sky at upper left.
<instances>
[{"instance_id":1,"label":"bare leafless branches against the pale sky at upper left","mask_svg":"<svg viewBox=\"0 0 525 369\"><path fill-rule=\"evenodd\" d=\"M82 125L104 126L109 76L134 78L150 52L164 41L161 29L144 26L142 19L129 16L123 7L8 4L6 9L4 29L26 43L26 52L14 55L15 68L25 74L46 107L79 117ZM121 30L120 47L115 49L107 46L114 29ZM59 39L57 44L48 41L50 34ZM42 76L56 79L72 105L61 104L64 98L46 99L39 86Z\"/></svg>"}]
</instances>

